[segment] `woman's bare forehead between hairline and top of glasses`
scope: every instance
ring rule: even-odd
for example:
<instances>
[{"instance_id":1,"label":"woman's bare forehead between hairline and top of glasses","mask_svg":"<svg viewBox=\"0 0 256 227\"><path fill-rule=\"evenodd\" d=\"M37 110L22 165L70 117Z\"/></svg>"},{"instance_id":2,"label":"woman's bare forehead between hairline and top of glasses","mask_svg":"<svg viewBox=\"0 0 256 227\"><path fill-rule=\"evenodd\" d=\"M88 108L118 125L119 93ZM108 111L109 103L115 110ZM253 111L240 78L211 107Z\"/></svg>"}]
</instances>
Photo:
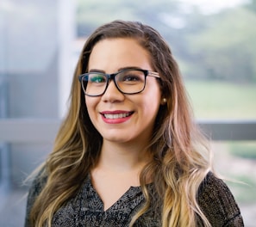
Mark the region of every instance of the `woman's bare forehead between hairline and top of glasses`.
<instances>
[{"instance_id":1,"label":"woman's bare forehead between hairline and top of glasses","mask_svg":"<svg viewBox=\"0 0 256 227\"><path fill-rule=\"evenodd\" d=\"M137 40L116 38L100 40L91 51L88 69L116 71L122 67L152 70L151 57Z\"/></svg>"}]
</instances>

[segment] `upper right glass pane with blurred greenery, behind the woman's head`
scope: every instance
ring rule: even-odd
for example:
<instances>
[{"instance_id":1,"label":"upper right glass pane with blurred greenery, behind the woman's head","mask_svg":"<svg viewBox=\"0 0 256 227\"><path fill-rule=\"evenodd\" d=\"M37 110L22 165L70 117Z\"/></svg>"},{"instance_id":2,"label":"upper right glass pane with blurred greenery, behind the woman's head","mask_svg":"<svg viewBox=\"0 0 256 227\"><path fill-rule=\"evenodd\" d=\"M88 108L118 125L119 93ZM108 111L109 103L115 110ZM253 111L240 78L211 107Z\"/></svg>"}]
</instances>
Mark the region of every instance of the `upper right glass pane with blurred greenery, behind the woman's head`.
<instances>
[{"instance_id":1,"label":"upper right glass pane with blurred greenery, behind the woman's head","mask_svg":"<svg viewBox=\"0 0 256 227\"><path fill-rule=\"evenodd\" d=\"M243 0L148 1L145 13L135 0L78 0L78 37L116 18L148 23L172 47L197 119L255 120L255 5Z\"/></svg>"}]
</instances>

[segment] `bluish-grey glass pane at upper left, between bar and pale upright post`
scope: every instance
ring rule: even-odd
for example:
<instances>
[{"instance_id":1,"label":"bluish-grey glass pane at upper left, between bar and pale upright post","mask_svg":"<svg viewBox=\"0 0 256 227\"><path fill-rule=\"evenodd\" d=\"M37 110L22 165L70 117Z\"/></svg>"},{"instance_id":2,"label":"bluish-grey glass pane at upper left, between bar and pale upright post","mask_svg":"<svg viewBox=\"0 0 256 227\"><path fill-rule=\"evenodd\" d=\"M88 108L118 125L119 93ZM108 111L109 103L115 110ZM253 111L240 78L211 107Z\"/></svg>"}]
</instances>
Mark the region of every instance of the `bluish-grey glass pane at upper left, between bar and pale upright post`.
<instances>
[{"instance_id":1,"label":"bluish-grey glass pane at upper left, between bar and pale upright post","mask_svg":"<svg viewBox=\"0 0 256 227\"><path fill-rule=\"evenodd\" d=\"M1 6L2 117L57 117L56 3L12 0L1 1Z\"/></svg>"}]
</instances>

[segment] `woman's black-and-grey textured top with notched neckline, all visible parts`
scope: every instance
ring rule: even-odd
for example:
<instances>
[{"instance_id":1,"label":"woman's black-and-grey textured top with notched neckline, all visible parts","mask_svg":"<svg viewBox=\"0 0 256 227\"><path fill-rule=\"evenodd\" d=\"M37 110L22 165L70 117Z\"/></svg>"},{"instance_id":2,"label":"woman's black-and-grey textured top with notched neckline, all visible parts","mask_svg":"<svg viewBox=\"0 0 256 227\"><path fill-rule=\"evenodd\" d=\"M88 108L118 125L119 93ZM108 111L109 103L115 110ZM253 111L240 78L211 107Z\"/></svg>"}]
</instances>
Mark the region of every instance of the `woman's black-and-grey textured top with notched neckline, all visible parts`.
<instances>
[{"instance_id":1,"label":"woman's black-and-grey textured top with notched neckline, all visible parts","mask_svg":"<svg viewBox=\"0 0 256 227\"><path fill-rule=\"evenodd\" d=\"M41 192L47 179L42 181L34 180L28 193L28 215L34 204L34 199ZM153 193L153 185L149 184L148 190ZM198 203L205 216L209 219L213 227L244 226L240 215L240 209L235 203L234 196L229 191L227 185L215 175L209 173L198 190ZM91 184L88 176L80 190L72 199L66 202L53 216L53 227L72 226L128 226L134 213L137 212L145 202L140 187L130 187L116 203L103 210L103 202ZM150 209L142 215L134 224L139 226L161 226L161 214ZM203 226L198 220L198 226Z\"/></svg>"}]
</instances>

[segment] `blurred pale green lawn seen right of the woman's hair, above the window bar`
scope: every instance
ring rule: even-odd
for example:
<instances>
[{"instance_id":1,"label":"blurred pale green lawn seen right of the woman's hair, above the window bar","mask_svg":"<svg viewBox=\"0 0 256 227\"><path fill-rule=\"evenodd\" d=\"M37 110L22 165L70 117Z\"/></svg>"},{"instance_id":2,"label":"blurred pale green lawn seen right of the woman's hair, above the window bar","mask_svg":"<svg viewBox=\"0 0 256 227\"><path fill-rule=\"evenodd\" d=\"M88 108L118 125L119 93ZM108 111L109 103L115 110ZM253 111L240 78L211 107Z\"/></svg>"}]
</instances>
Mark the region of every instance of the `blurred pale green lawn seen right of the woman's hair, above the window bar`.
<instances>
[{"instance_id":1,"label":"blurred pale green lawn seen right of the woman's hair, above the window bar","mask_svg":"<svg viewBox=\"0 0 256 227\"><path fill-rule=\"evenodd\" d=\"M256 117L256 83L240 86L239 83L186 80L185 86L197 119L253 120Z\"/></svg>"}]
</instances>

